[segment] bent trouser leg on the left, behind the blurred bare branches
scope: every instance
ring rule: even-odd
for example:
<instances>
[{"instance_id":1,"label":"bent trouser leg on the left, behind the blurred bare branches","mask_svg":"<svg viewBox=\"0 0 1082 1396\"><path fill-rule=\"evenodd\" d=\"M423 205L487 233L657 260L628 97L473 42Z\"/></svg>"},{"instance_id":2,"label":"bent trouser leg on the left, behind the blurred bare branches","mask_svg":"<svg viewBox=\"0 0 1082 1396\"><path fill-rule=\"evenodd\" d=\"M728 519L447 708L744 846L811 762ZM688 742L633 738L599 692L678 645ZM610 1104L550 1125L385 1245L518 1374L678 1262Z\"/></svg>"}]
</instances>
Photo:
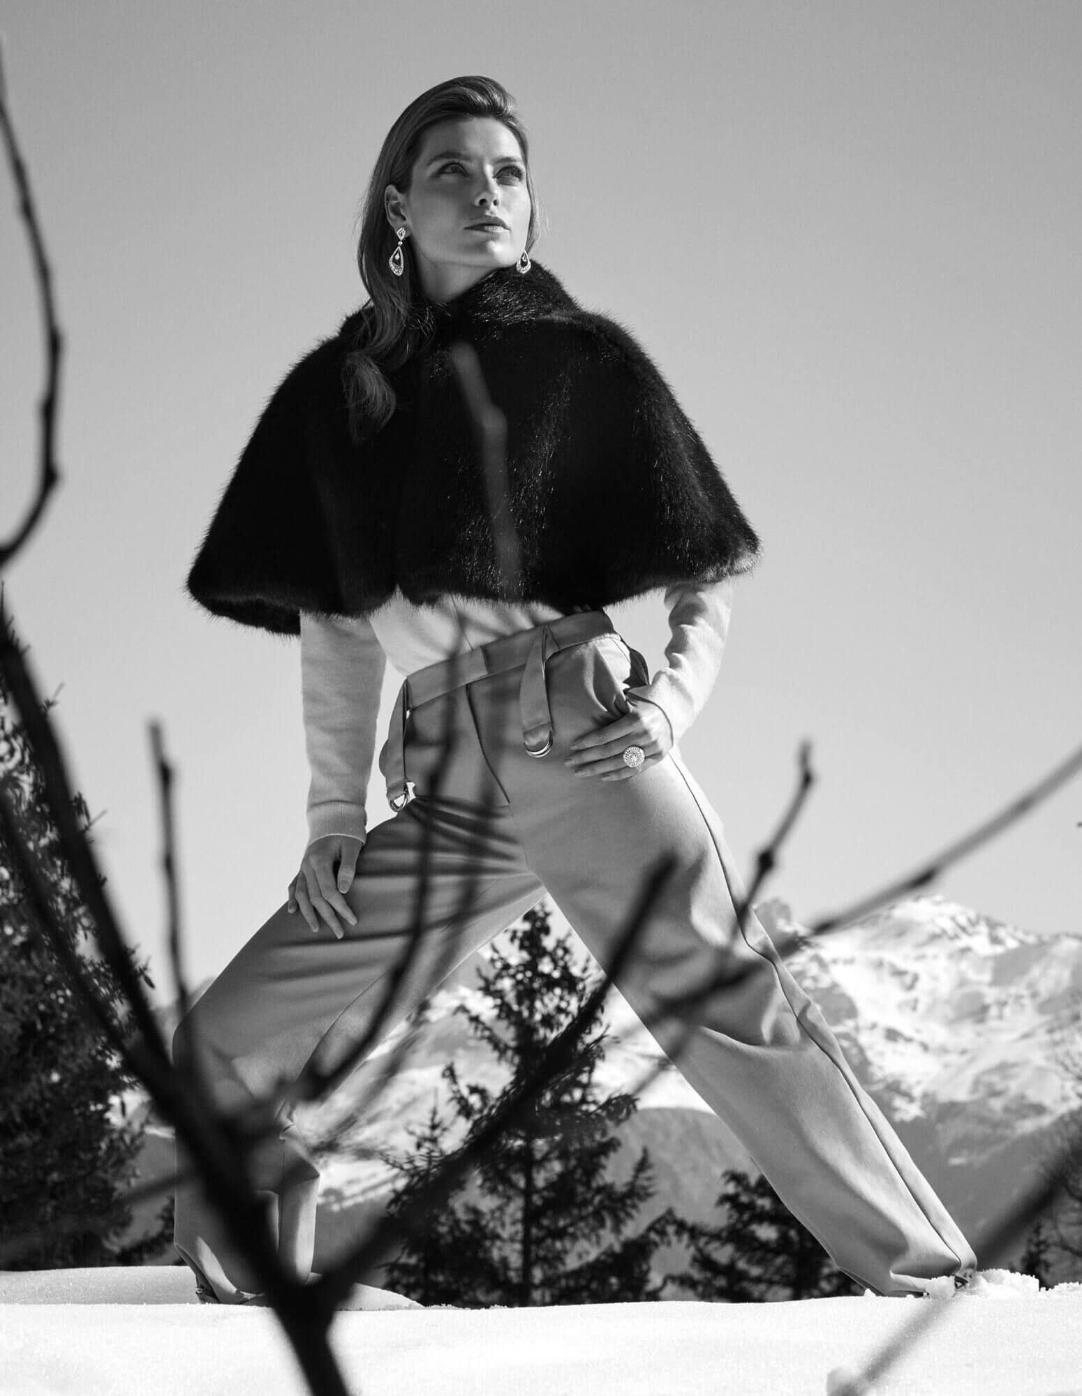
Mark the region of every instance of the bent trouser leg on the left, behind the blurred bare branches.
<instances>
[{"instance_id":1,"label":"bent trouser leg on the left, behind the blurred bare branches","mask_svg":"<svg viewBox=\"0 0 1082 1396\"><path fill-rule=\"evenodd\" d=\"M370 832L346 898L357 926L346 927L343 940L325 927L313 934L300 913L281 906L181 1022L176 1058L198 1057L221 1108L278 1101L313 1055L332 1068L363 1040L410 940L423 850L420 953L371 1047L542 895L493 792L480 803L465 799L464 787L473 792L464 779L455 785L455 769L448 783L447 799L415 800ZM303 1279L311 1269L318 1170L288 1110L279 1122L253 1160L251 1181L276 1198L279 1256ZM181 1149L177 1161L186 1163ZM261 1287L198 1184L177 1189L175 1245L223 1302L242 1302Z\"/></svg>"}]
</instances>

